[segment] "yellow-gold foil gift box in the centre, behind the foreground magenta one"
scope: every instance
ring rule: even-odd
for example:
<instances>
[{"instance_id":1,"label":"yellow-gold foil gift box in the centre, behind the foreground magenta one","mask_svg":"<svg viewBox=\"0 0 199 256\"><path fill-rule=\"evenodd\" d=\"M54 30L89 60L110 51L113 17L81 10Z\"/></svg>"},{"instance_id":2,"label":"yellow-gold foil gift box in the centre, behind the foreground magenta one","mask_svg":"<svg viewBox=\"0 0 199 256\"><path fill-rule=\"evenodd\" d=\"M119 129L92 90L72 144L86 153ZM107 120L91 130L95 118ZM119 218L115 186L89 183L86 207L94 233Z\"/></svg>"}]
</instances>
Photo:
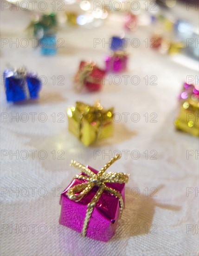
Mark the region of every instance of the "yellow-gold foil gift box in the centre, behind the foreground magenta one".
<instances>
[{"instance_id":1,"label":"yellow-gold foil gift box in the centre, behind the foreground magenta one","mask_svg":"<svg viewBox=\"0 0 199 256\"><path fill-rule=\"evenodd\" d=\"M69 131L85 146L113 134L113 108L104 109L99 102L90 106L77 101L67 115Z\"/></svg>"}]
</instances>

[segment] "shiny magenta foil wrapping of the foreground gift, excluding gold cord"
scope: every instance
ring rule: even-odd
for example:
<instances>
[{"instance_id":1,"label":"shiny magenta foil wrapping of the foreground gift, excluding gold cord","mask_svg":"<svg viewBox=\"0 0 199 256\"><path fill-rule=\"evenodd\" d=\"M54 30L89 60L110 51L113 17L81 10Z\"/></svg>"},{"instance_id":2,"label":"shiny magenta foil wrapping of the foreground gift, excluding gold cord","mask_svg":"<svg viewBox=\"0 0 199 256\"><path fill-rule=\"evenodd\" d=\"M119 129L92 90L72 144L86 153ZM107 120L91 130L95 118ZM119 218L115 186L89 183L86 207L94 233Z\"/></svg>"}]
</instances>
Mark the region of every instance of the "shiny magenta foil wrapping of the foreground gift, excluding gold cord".
<instances>
[{"instance_id":1,"label":"shiny magenta foil wrapping of the foreground gift, excluding gold cord","mask_svg":"<svg viewBox=\"0 0 199 256\"><path fill-rule=\"evenodd\" d=\"M89 168L95 174L98 173L97 170L90 166L87 166L87 168ZM66 195L67 190L72 186L80 183L83 183L83 181L74 179L71 184L62 192L59 202L61 205L59 223L61 225L74 229L79 233L82 232L87 205L96 194L96 191L98 189L98 187L96 186L93 187L93 189L91 189L90 192L85 195L83 199L81 199L79 202L70 200ZM112 189L116 189L118 192L120 192L124 202L125 183L105 184L106 186ZM119 215L120 205L118 198L115 195L110 194L106 190L104 190L99 198L99 201L96 203L95 208L93 209L87 227L86 236L92 239L107 242L115 234Z\"/></svg>"}]
</instances>

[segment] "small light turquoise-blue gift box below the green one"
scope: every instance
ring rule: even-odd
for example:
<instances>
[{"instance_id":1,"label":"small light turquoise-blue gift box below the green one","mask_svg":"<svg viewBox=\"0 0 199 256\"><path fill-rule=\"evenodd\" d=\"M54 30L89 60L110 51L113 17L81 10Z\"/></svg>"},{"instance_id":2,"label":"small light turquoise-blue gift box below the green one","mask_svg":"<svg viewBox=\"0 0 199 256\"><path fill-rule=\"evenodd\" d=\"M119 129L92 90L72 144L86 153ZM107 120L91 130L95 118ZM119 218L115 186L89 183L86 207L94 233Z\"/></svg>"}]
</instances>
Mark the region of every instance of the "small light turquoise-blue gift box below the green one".
<instances>
[{"instance_id":1,"label":"small light turquoise-blue gift box below the green one","mask_svg":"<svg viewBox=\"0 0 199 256\"><path fill-rule=\"evenodd\" d=\"M57 53L56 36L44 35L39 40L39 47L41 48L41 54L54 55Z\"/></svg>"}]
</instances>

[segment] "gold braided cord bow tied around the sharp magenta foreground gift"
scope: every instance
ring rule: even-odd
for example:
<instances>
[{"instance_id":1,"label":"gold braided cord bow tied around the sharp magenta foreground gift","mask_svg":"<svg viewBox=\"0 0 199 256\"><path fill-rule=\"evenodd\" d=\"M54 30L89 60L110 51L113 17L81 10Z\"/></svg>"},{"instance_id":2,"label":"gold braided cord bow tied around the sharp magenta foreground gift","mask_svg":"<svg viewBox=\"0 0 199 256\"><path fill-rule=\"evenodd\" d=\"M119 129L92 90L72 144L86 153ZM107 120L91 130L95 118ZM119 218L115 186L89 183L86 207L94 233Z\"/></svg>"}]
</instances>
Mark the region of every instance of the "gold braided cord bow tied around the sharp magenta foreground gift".
<instances>
[{"instance_id":1,"label":"gold braided cord bow tied around the sharp magenta foreground gift","mask_svg":"<svg viewBox=\"0 0 199 256\"><path fill-rule=\"evenodd\" d=\"M120 217L122 216L123 211L123 200L122 195L120 192L118 192L116 189L109 188L105 185L106 182L117 182L117 183L127 183L128 182L128 175L126 173L122 172L108 172L104 173L107 168L116 160L120 158L120 155L115 155L107 164L104 165L104 167L97 173L93 173L89 168L86 168L81 163L71 160L71 166L76 167L77 169L81 170L85 175L76 175L73 179L79 179L83 180L82 184L77 184L66 192L66 195L69 199L73 201L80 201L84 195L88 194L89 191L94 187L98 186L98 190L96 192L96 195L92 198L90 203L87 206L86 210L86 216L83 222L83 229L82 229L82 235L86 236L86 230L88 227L88 223L90 220L90 216L92 214L92 211L98 202L101 194L103 193L103 190L108 191L110 194L115 195L120 203Z\"/></svg>"}]
</instances>

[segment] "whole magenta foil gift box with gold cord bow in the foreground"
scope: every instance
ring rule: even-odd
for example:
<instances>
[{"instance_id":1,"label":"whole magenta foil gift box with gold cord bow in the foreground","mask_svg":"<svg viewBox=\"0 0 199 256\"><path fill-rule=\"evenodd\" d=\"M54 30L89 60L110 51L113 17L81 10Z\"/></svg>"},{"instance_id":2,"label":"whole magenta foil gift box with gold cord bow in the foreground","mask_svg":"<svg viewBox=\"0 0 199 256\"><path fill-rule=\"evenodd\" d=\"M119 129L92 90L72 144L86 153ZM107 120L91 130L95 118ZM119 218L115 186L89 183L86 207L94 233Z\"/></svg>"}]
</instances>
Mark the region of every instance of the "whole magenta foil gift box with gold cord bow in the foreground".
<instances>
[{"instance_id":1,"label":"whole magenta foil gift box with gold cord bow in the foreground","mask_svg":"<svg viewBox=\"0 0 199 256\"><path fill-rule=\"evenodd\" d=\"M114 235L124 207L128 175L104 172L119 158L119 155L113 157L99 172L71 161L71 166L82 172L61 194L61 225L104 242Z\"/></svg>"}]
</instances>

